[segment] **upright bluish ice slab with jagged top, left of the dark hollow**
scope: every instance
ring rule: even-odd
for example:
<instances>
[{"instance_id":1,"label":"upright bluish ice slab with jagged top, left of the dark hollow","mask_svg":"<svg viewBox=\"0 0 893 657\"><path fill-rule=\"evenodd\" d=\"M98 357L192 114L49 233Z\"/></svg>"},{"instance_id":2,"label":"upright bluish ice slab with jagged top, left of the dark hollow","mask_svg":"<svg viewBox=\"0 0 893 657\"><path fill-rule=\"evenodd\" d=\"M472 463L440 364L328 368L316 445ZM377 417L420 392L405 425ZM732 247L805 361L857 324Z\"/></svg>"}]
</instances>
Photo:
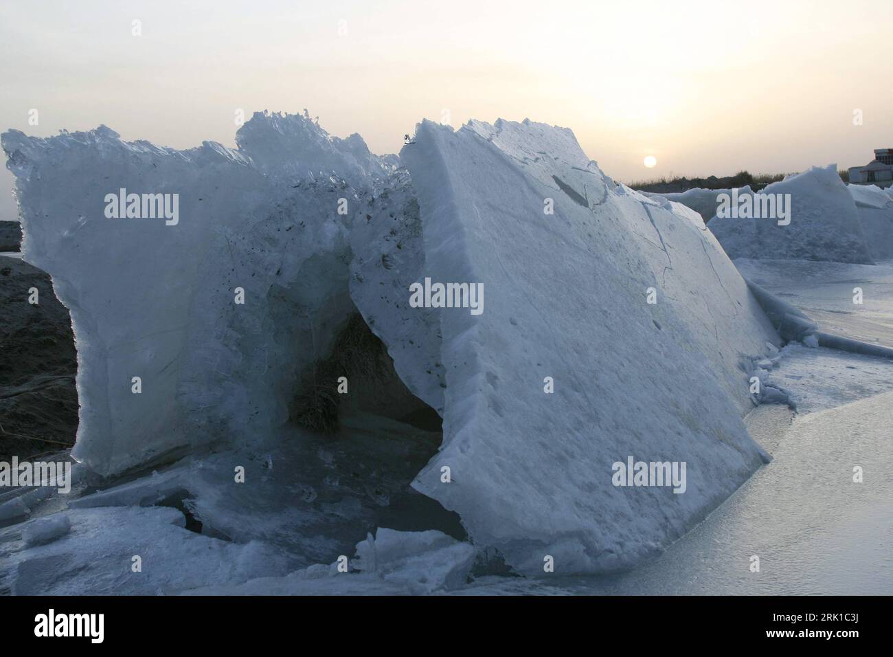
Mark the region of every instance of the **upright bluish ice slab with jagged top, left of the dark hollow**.
<instances>
[{"instance_id":1,"label":"upright bluish ice slab with jagged top, left of the dark hollow","mask_svg":"<svg viewBox=\"0 0 893 657\"><path fill-rule=\"evenodd\" d=\"M355 312L348 227L390 165L306 116L255 114L237 141L179 151L104 126L3 135L25 257L71 310L74 454L102 474L280 425ZM129 194L139 217L127 196L109 203ZM170 213L149 194L168 195Z\"/></svg>"}]
</instances>

